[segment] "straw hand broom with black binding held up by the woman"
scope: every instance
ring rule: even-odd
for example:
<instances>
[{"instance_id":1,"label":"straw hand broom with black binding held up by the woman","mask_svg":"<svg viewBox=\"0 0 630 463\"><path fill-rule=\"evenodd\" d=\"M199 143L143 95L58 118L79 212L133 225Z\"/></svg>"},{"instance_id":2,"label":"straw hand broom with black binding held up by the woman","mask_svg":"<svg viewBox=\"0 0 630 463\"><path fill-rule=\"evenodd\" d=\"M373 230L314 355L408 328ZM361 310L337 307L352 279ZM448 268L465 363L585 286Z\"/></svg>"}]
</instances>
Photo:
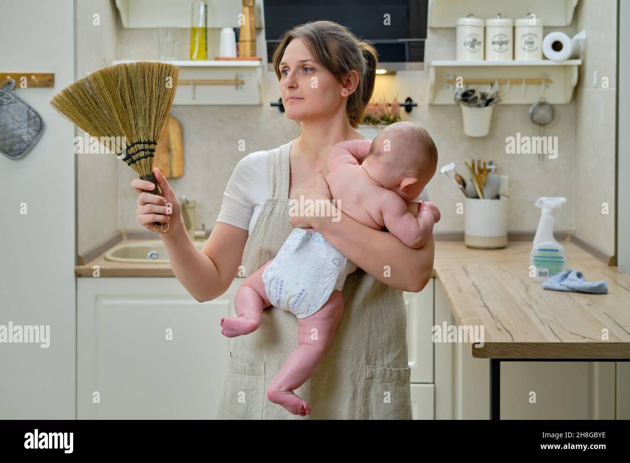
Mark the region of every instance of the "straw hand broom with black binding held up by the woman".
<instances>
[{"instance_id":1,"label":"straw hand broom with black binding held up by the woman","mask_svg":"<svg viewBox=\"0 0 630 463\"><path fill-rule=\"evenodd\" d=\"M152 173L157 139L168 119L179 67L161 62L116 64L64 88L50 105L161 191ZM120 159L120 157L119 157ZM153 231L157 226L153 224Z\"/></svg>"}]
</instances>

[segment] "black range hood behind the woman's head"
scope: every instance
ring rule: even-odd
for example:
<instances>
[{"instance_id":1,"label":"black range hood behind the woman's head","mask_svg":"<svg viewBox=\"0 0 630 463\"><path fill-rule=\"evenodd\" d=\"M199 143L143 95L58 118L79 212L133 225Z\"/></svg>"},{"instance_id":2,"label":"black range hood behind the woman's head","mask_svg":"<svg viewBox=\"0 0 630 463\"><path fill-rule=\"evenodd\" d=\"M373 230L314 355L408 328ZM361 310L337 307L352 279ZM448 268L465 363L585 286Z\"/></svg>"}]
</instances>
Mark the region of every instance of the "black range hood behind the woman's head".
<instances>
[{"instance_id":1,"label":"black range hood behind the woman's head","mask_svg":"<svg viewBox=\"0 0 630 463\"><path fill-rule=\"evenodd\" d=\"M379 67L424 69L428 0L264 0L267 69L282 34L300 24L328 20L374 43Z\"/></svg>"}]
</instances>

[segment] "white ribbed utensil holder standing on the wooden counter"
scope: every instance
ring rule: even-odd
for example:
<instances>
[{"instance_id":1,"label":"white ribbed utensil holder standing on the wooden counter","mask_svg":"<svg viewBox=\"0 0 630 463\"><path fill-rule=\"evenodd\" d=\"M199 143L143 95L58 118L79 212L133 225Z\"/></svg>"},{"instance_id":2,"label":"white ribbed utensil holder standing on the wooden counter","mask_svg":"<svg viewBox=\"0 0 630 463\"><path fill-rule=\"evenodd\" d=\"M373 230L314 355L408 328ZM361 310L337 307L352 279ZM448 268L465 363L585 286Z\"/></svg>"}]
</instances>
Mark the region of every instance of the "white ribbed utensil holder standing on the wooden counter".
<instances>
[{"instance_id":1,"label":"white ribbed utensil holder standing on the wooden counter","mask_svg":"<svg viewBox=\"0 0 630 463\"><path fill-rule=\"evenodd\" d=\"M496 249L508 244L508 200L466 199L464 244L469 248Z\"/></svg>"}]
</instances>

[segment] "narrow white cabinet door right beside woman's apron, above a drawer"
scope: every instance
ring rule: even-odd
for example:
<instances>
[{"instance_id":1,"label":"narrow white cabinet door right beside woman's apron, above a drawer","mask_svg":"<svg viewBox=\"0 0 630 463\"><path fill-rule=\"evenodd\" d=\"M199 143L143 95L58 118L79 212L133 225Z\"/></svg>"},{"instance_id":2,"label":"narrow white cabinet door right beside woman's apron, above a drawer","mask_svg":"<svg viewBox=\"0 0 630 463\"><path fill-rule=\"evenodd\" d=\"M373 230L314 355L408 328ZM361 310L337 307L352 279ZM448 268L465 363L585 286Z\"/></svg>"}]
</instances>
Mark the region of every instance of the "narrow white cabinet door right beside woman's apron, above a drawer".
<instances>
[{"instance_id":1,"label":"narrow white cabinet door right beside woman's apron, above a drawer","mask_svg":"<svg viewBox=\"0 0 630 463\"><path fill-rule=\"evenodd\" d=\"M411 382L433 382L433 280L420 292L403 292Z\"/></svg>"}]
</instances>

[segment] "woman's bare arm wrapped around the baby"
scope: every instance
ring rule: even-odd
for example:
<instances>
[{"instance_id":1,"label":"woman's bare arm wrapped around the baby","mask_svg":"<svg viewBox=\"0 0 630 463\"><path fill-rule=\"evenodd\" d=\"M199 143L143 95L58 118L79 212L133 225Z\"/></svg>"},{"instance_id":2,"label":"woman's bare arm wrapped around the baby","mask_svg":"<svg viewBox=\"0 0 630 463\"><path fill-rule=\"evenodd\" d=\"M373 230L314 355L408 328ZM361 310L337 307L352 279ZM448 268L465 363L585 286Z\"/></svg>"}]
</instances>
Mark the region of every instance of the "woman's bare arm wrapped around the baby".
<instances>
[{"instance_id":1,"label":"woman's bare arm wrapped around the baby","mask_svg":"<svg viewBox=\"0 0 630 463\"><path fill-rule=\"evenodd\" d=\"M328 201L326 206L331 207L331 217L294 216L290 218L291 225L313 227L353 263L386 285L403 291L420 292L433 273L433 234L422 248L408 248L391 233L365 226L336 209L330 201L328 185L321 172L316 174L316 181L317 186L314 188L299 188L296 194L303 195L305 201ZM333 222L332 217L340 217L340 220Z\"/></svg>"}]
</instances>

